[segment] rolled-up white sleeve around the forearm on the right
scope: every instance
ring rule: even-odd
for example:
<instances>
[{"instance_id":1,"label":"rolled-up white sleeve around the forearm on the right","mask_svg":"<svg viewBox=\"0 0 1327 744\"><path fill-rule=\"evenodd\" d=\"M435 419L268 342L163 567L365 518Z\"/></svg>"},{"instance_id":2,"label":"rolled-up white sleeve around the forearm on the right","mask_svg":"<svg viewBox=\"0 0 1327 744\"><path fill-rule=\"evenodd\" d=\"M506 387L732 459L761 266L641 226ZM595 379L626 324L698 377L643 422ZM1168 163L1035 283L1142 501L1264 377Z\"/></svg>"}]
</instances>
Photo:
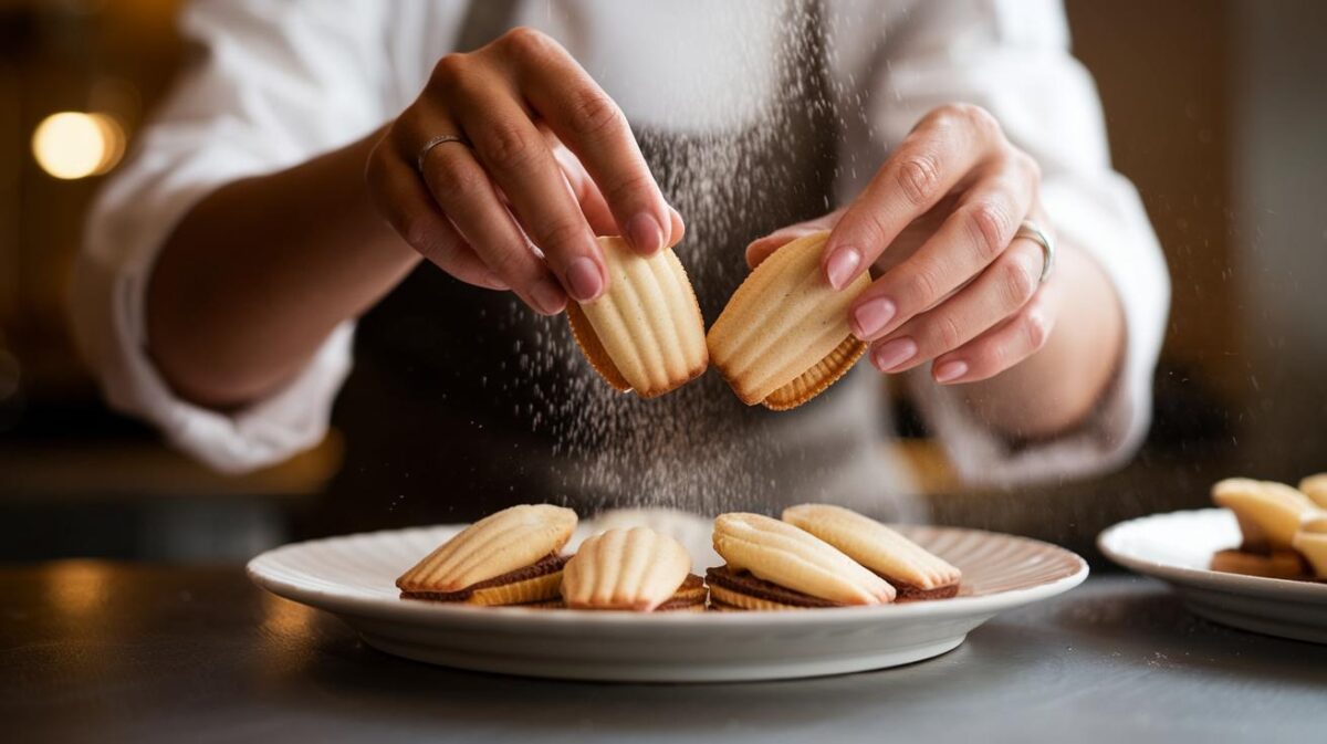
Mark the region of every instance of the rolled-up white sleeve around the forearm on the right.
<instances>
[{"instance_id":1,"label":"rolled-up white sleeve around the forearm on the right","mask_svg":"<svg viewBox=\"0 0 1327 744\"><path fill-rule=\"evenodd\" d=\"M1151 423L1170 285L1137 191L1111 167L1100 102L1070 54L1063 8L1055 0L954 0L893 11L874 27L886 29L884 38L864 40L861 23L849 28L840 20L836 28L845 41L857 38L843 46L839 72L861 81L864 101L845 142L840 199L856 195L874 172L872 163L929 110L982 106L1040 163L1040 199L1059 240L1100 264L1127 324L1123 359L1089 420L1051 440L1011 443L975 420L962 386L938 386L925 369L905 375L906 385L967 483L1007 485L1115 467L1137 450Z\"/></svg>"}]
</instances>

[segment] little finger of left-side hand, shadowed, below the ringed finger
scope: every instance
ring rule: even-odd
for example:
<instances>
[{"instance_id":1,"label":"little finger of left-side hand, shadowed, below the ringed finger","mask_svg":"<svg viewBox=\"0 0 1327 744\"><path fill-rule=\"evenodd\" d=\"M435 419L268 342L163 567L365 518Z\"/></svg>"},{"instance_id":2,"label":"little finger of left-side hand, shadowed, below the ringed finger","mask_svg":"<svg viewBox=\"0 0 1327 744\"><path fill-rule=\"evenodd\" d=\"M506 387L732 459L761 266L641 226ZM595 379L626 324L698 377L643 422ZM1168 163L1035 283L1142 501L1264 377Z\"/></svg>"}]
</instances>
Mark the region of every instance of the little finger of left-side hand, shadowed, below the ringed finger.
<instances>
[{"instance_id":1,"label":"little finger of left-side hand, shadowed, below the ringed finger","mask_svg":"<svg viewBox=\"0 0 1327 744\"><path fill-rule=\"evenodd\" d=\"M466 284L508 289L438 211L413 167L387 151L374 151L369 163L378 210L411 248Z\"/></svg>"}]
</instances>

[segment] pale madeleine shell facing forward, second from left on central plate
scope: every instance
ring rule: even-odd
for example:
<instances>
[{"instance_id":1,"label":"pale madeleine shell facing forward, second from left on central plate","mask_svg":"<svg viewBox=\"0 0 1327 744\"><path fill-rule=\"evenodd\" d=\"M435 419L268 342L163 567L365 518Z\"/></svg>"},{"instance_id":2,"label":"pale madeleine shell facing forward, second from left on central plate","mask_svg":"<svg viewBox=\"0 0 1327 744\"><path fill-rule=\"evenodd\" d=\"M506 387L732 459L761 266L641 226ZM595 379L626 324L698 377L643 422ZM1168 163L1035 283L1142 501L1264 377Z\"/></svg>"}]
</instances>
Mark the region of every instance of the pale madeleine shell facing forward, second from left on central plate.
<instances>
[{"instance_id":1,"label":"pale madeleine shell facing forward, second from left on central plate","mask_svg":"<svg viewBox=\"0 0 1327 744\"><path fill-rule=\"evenodd\" d=\"M563 569L568 607L650 611L691 573L682 544L653 529L610 529L581 542Z\"/></svg>"}]
</instances>

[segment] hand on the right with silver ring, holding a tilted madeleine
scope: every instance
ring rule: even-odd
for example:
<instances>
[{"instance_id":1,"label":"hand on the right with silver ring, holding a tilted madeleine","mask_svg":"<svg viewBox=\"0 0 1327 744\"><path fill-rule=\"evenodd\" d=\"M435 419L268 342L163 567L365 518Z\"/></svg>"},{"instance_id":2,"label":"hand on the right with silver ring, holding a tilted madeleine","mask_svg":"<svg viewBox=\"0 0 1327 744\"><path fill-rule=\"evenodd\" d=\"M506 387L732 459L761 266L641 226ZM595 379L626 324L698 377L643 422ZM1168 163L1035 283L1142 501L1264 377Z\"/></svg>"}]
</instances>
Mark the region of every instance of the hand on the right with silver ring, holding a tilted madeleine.
<instances>
[{"instance_id":1,"label":"hand on the right with silver ring, holding a tilted madeleine","mask_svg":"<svg viewBox=\"0 0 1327 744\"><path fill-rule=\"evenodd\" d=\"M882 271L849 310L872 363L901 373L934 361L936 382L977 382L1032 355L1055 324L1055 284L1039 282L1042 247L1014 240L1024 219L1048 229L1039 182L1036 163L989 113L941 106L851 206L756 240L747 263L832 228L821 265L833 286Z\"/></svg>"}]
</instances>

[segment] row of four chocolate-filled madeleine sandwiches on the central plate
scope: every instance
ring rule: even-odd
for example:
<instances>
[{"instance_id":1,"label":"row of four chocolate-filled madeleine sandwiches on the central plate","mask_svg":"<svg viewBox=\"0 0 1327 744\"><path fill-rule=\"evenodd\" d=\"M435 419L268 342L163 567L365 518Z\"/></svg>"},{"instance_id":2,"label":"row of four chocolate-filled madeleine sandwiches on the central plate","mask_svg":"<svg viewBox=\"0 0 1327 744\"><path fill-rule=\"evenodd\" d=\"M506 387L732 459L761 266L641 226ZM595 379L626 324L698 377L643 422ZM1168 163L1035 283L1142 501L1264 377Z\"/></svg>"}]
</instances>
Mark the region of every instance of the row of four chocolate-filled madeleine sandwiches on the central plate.
<instances>
[{"instance_id":1,"label":"row of four chocolate-filled madeleine sandwiches on the central plate","mask_svg":"<svg viewBox=\"0 0 1327 744\"><path fill-rule=\"evenodd\" d=\"M726 565L702 580L674 538L644 527L601 532L563 553L577 517L548 504L491 515L397 580L407 599L628 611L790 610L941 599L962 574L888 527L827 504L783 520L714 520Z\"/></svg>"}]
</instances>

